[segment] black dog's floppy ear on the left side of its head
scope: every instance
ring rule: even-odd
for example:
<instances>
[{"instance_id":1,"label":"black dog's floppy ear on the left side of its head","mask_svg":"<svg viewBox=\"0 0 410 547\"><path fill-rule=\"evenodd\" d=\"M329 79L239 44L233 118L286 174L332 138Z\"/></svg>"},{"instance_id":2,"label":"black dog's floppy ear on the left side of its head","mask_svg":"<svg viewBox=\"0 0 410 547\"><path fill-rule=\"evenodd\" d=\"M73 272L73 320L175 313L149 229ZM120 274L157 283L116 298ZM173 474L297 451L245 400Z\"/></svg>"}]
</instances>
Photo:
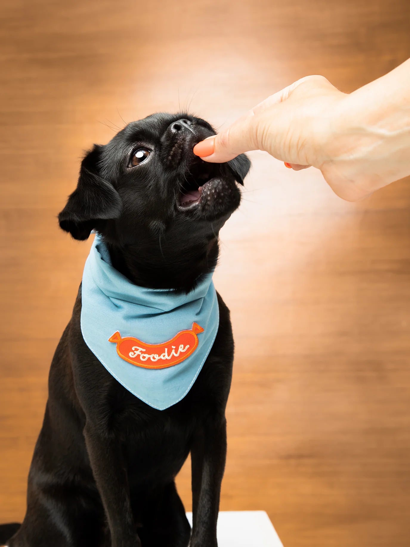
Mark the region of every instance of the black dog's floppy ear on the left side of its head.
<instances>
[{"instance_id":1,"label":"black dog's floppy ear on the left side of its head","mask_svg":"<svg viewBox=\"0 0 410 547\"><path fill-rule=\"evenodd\" d=\"M86 240L98 220L118 218L122 202L112 184L99 176L102 147L97 144L81 162L77 188L58 215L60 228L77 240Z\"/></svg>"}]
</instances>

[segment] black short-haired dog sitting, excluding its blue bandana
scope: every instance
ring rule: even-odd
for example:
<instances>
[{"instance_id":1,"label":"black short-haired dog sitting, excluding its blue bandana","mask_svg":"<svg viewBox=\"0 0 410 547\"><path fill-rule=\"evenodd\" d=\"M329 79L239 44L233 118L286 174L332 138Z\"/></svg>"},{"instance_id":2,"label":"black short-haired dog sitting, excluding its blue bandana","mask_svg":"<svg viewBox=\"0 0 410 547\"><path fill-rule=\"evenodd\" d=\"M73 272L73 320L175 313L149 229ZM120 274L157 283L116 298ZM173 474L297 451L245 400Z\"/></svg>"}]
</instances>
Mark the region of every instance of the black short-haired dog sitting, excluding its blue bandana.
<instances>
[{"instance_id":1,"label":"black short-haired dog sitting, excluding its blue bandana","mask_svg":"<svg viewBox=\"0 0 410 547\"><path fill-rule=\"evenodd\" d=\"M213 271L218 233L239 205L250 162L208 164L192 153L213 128L187 114L131 123L82 164L58 219L86 240L96 230L131 282L188 293ZM229 310L194 386L156 410L114 379L80 330L81 290L57 346L28 477L22 525L9 547L216 547L232 374ZM191 452L193 530L174 478ZM10 538L11 534L14 536Z\"/></svg>"}]
</instances>

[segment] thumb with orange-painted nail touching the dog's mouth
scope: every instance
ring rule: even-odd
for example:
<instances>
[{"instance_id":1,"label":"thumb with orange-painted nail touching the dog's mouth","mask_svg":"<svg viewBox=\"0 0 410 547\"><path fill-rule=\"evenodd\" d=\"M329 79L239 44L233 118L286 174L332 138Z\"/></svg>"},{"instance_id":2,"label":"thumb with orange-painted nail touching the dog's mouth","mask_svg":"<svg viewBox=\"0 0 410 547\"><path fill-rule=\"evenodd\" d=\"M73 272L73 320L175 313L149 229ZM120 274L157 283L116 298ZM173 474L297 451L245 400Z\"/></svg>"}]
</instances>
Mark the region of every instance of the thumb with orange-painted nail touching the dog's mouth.
<instances>
[{"instance_id":1,"label":"thumb with orange-painted nail touching the dog's mouth","mask_svg":"<svg viewBox=\"0 0 410 547\"><path fill-rule=\"evenodd\" d=\"M253 122L254 113L250 110L225 131L196 144L194 154L205 161L221 163L243 152L255 150L258 146Z\"/></svg>"}]
</instances>

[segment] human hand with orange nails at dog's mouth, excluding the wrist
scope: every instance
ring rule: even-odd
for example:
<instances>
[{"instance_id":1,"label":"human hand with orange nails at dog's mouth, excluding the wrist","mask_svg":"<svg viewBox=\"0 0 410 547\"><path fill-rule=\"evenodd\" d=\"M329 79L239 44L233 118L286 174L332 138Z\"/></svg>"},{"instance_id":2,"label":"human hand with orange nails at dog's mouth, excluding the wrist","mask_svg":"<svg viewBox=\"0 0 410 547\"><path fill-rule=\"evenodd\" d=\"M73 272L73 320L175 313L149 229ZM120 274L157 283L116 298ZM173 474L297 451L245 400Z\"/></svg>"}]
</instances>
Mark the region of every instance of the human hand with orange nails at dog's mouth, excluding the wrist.
<instances>
[{"instance_id":1,"label":"human hand with orange nails at dog's mouth, excluding the wrist","mask_svg":"<svg viewBox=\"0 0 410 547\"><path fill-rule=\"evenodd\" d=\"M307 76L271 95L229 129L198 143L194 153L212 162L249 150L266 150L294 168L317 166L321 120L344 94L323 76Z\"/></svg>"}]
</instances>

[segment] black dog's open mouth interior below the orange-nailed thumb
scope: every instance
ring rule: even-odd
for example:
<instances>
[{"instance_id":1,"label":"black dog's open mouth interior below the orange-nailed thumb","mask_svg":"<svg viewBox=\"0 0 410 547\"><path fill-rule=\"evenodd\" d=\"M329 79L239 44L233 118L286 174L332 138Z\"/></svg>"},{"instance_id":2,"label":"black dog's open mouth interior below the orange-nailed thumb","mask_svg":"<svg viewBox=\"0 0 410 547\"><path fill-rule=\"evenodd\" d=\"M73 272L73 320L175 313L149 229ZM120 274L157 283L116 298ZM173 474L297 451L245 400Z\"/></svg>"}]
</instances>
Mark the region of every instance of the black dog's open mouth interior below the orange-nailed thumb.
<instances>
[{"instance_id":1,"label":"black dog's open mouth interior below the orange-nailed thumb","mask_svg":"<svg viewBox=\"0 0 410 547\"><path fill-rule=\"evenodd\" d=\"M184 180L181 182L178 197L179 208L185 210L197 206L201 201L204 187L218 173L218 165L203 160L191 165L189 172L185 174Z\"/></svg>"}]
</instances>

